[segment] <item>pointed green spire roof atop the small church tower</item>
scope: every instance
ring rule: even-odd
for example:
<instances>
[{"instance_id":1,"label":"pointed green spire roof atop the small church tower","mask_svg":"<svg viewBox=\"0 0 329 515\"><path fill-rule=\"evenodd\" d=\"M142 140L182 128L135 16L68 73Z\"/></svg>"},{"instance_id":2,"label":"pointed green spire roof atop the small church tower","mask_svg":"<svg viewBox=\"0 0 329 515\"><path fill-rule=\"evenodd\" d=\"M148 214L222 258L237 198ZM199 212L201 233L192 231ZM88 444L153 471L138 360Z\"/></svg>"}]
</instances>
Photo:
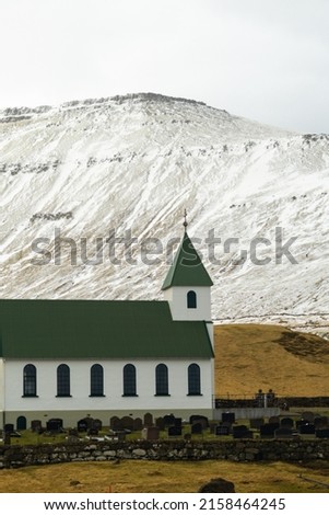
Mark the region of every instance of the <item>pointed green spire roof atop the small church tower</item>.
<instances>
[{"instance_id":1,"label":"pointed green spire roof atop the small church tower","mask_svg":"<svg viewBox=\"0 0 329 515\"><path fill-rule=\"evenodd\" d=\"M188 237L188 233L185 232L162 289L167 289L172 286L212 285L213 282L204 268L198 252Z\"/></svg>"}]
</instances>

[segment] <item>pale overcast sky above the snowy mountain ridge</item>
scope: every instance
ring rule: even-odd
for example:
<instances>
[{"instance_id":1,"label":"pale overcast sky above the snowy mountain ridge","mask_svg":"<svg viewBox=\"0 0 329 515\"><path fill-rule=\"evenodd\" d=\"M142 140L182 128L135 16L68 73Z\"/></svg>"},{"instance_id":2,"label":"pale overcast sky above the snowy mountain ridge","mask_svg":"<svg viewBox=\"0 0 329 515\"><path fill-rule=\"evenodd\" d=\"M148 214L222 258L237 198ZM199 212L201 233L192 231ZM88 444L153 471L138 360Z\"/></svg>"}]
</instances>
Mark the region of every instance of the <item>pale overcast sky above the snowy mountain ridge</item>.
<instances>
[{"instance_id":1,"label":"pale overcast sky above the snowy mountain ridge","mask_svg":"<svg viewBox=\"0 0 329 515\"><path fill-rule=\"evenodd\" d=\"M0 107L152 91L329 133L328 0L0 0Z\"/></svg>"}]
</instances>

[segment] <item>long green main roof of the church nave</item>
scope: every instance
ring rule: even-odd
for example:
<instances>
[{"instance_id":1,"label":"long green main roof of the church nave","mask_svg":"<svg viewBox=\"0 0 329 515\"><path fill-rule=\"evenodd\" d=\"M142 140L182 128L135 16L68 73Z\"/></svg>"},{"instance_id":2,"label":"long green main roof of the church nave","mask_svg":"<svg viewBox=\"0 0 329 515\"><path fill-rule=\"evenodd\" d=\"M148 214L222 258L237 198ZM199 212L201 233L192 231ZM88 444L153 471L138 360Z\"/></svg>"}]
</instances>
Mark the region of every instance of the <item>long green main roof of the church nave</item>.
<instances>
[{"instance_id":1,"label":"long green main roof of the church nave","mask_svg":"<svg viewBox=\"0 0 329 515\"><path fill-rule=\"evenodd\" d=\"M0 300L4 358L210 358L205 322L173 321L166 301Z\"/></svg>"}]
</instances>

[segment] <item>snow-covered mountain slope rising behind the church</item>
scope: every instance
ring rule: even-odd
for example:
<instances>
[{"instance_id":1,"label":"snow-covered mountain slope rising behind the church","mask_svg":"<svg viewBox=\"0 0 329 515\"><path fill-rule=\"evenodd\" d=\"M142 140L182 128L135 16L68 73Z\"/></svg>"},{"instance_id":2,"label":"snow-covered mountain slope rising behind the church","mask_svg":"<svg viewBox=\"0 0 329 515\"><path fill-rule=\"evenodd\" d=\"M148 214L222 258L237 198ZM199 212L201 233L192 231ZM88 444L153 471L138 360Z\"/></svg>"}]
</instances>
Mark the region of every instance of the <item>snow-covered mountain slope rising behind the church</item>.
<instances>
[{"instance_id":1,"label":"snow-covered mountain slope rising behind the church","mask_svg":"<svg viewBox=\"0 0 329 515\"><path fill-rule=\"evenodd\" d=\"M329 136L152 93L8 108L0 127L2 298L161 298L186 208L215 319L326 330Z\"/></svg>"}]
</instances>

